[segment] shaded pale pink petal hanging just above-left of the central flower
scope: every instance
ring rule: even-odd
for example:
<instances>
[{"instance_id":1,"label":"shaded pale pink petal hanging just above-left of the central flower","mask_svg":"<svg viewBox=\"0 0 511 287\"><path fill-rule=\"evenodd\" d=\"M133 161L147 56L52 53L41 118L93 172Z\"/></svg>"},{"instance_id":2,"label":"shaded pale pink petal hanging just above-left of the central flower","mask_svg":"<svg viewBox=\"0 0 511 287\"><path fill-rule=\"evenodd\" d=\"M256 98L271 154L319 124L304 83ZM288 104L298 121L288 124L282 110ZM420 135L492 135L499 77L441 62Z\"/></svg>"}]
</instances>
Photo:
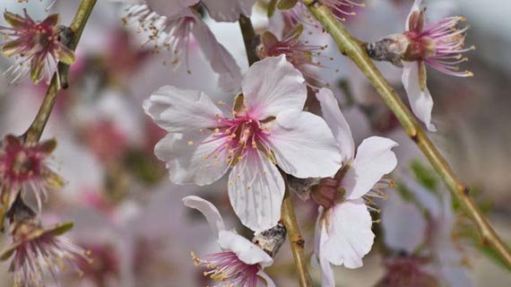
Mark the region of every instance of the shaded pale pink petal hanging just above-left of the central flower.
<instances>
[{"instance_id":1,"label":"shaded pale pink petal hanging just above-left of the central flower","mask_svg":"<svg viewBox=\"0 0 511 287\"><path fill-rule=\"evenodd\" d=\"M237 91L241 83L241 72L229 51L221 46L204 22L197 21L192 32L201 46L204 57L211 63L212 70L220 75L221 90Z\"/></svg>"}]
</instances>

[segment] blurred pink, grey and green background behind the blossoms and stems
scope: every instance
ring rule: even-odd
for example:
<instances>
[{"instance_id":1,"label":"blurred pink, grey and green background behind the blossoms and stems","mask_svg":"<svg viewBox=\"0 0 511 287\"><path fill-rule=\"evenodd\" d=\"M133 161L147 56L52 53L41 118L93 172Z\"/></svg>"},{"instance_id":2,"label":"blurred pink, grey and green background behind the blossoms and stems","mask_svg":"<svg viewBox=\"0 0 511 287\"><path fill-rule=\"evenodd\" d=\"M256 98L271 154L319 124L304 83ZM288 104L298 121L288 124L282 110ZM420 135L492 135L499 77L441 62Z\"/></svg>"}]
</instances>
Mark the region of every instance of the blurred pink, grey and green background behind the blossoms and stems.
<instances>
[{"instance_id":1,"label":"blurred pink, grey and green background behind the blossoms and stems","mask_svg":"<svg viewBox=\"0 0 511 287\"><path fill-rule=\"evenodd\" d=\"M366 2L365 9L345 22L359 39L371 42L403 32L413 1ZM68 24L79 3L79 0L57 0L51 13L60 13L61 22ZM511 242L511 207L508 204L511 202L511 177L508 175L511 162L511 2L431 0L425 3L429 6L431 22L453 14L466 16L463 24L471 25L466 45L477 47L468 53L470 61L463 64L463 68L473 72L472 78L456 78L429 70L429 90L435 100L433 121L438 128L431 137L456 174L472 187L475 199L498 234ZM47 15L47 5L36 0L31 0L30 4L3 0L0 11L22 13L26 8L32 18L42 20ZM261 1L253 11L257 31L273 29L273 20L268 21L265 6ZM142 101L166 84L205 91L213 100L225 102L230 102L233 95L217 87L218 75L212 71L194 39L187 51L191 74L186 73L184 66L173 71L172 66L165 65L169 55L152 53L151 47L141 45L144 35L137 32L137 26L123 23L125 9L121 4L98 1L76 51L70 87L61 91L43 134L43 139L56 137L58 147L54 161L66 180L65 188L50 194L43 205L43 222L74 221L75 228L68 236L92 251L94 262L82 266L83 278L65 275L64 286L205 286L208 282L203 270L193 265L189 252L206 254L218 251L218 247L204 218L187 210L181 198L203 196L219 207L228 226L237 228L241 234L250 234L241 228L232 212L225 178L200 188L170 183L164 163L152 152L165 132L143 114ZM207 18L205 21L235 57L241 71L246 71L247 59L238 23L216 23ZM0 25L5 25L3 19ZM419 184L421 178L437 181L428 162L404 135L385 103L355 67L339 55L329 36L314 27L306 29L312 33L306 36L311 43L329 47L324 56L333 60L325 62L326 68L315 73L333 87L356 141L359 143L375 134L398 141L400 146L395 152L399 168L392 177L400 185L406 182L402 178L414 178L412 181ZM12 64L11 59L0 57L0 72ZM378 63L378 67L407 102L401 70L386 63ZM334 73L335 69L340 71ZM23 133L35 117L45 91L46 83L33 85L24 81L10 85L6 77L0 77L0 136ZM308 102L308 109L317 110L314 100ZM413 184L408 184L408 188L413 188L411 186ZM441 183L429 189L434 189L437 195L447 192ZM392 245L392 230L406 234L403 230L417 227L406 221L403 214L399 216L400 213L385 219L385 212L400 208L385 207L393 196L399 196L395 190L387 193L389 200L383 203L381 214L383 222L375 227L377 244L365 257L362 268L335 268L338 286L373 286L380 282L389 273L385 263L391 253L388 249ZM311 201L302 202L298 197L295 199L300 226L307 239L307 254L311 255L315 224L311 218L316 218L316 205ZM385 225L385 221L394 225ZM389 231L384 235L387 227ZM8 244L9 239L3 241ZM466 260L461 267L467 271L472 285L511 286L509 272L481 252L481 242L472 235L471 239L463 240L463 244L469 248L463 251ZM12 286L7 268L8 263L0 265L0 286ZM311 270L319 285L318 270ZM298 286L287 242L267 271L278 286Z\"/></svg>"}]
</instances>

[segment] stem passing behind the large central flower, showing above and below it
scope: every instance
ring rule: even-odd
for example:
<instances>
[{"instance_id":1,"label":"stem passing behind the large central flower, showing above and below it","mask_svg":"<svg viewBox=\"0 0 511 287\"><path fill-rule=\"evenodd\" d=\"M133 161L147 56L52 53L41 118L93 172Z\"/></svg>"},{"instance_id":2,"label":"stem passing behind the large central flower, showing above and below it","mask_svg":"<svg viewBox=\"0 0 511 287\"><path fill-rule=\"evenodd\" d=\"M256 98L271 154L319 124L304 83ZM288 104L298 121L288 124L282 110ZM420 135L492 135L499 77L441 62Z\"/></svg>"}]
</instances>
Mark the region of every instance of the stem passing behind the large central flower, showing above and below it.
<instances>
[{"instance_id":1,"label":"stem passing behind the large central flower, showing above and below it","mask_svg":"<svg viewBox=\"0 0 511 287\"><path fill-rule=\"evenodd\" d=\"M239 27L243 34L243 40L245 42L245 48L247 50L248 64L252 65L259 60L256 52L255 41L255 30L250 22L250 18L243 15L239 18ZM284 178L284 184L286 187L284 199L281 205L281 220L288 232L290 239L290 248L294 257L300 287L311 287L312 280L310 274L307 271L307 259L304 254L305 240L302 239L299 231L299 224L297 222L293 204L290 198L290 188L288 187L287 175L281 171L282 178Z\"/></svg>"}]
</instances>

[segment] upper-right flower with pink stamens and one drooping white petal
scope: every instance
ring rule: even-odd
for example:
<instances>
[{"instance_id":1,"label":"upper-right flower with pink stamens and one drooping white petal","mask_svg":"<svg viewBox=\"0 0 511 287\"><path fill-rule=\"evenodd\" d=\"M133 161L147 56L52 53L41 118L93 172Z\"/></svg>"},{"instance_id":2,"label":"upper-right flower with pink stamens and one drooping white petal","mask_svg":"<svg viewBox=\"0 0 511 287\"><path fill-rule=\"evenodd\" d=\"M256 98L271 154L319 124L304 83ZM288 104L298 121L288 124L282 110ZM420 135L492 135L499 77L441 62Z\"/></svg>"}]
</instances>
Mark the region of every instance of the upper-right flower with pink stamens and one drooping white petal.
<instances>
[{"instance_id":1,"label":"upper-right flower with pink stamens and one drooping white petal","mask_svg":"<svg viewBox=\"0 0 511 287\"><path fill-rule=\"evenodd\" d=\"M413 113L428 127L436 131L431 124L433 99L426 86L426 65L445 74L468 77L472 72L459 71L457 66L467 58L462 53L474 49L463 48L465 32L469 26L458 30L456 24L463 17L449 17L439 22L425 24L425 9L420 9L422 0L415 0L406 21L406 51L403 54L403 85L411 103Z\"/></svg>"}]
</instances>

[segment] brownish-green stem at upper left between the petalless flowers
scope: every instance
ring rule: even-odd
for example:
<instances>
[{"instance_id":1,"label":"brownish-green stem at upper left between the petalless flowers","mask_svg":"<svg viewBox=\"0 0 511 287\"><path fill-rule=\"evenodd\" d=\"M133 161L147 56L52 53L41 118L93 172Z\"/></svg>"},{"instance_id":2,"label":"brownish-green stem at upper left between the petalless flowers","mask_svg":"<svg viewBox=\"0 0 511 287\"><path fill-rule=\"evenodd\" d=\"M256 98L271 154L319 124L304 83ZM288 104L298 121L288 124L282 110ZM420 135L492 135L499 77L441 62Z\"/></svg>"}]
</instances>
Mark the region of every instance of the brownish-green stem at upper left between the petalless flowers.
<instances>
[{"instance_id":1,"label":"brownish-green stem at upper left between the petalless flowers","mask_svg":"<svg viewBox=\"0 0 511 287\"><path fill-rule=\"evenodd\" d=\"M78 42L82 37L82 32L85 29L85 24L91 16L92 9L96 4L97 0L82 0L78 11L74 16L74 20L71 23L70 29L73 31L73 37L68 44L68 48L73 51L78 46ZM59 73L60 77L56 74ZM25 132L24 138L27 143L37 143L42 135L42 132L48 122L48 118L55 106L56 96L61 88L67 88L67 76L69 74L69 65L63 63L58 64L58 69L51 78L51 82L48 86L46 96L39 108L38 115L32 121L29 129ZM58 79L60 78L60 82Z\"/></svg>"}]
</instances>

